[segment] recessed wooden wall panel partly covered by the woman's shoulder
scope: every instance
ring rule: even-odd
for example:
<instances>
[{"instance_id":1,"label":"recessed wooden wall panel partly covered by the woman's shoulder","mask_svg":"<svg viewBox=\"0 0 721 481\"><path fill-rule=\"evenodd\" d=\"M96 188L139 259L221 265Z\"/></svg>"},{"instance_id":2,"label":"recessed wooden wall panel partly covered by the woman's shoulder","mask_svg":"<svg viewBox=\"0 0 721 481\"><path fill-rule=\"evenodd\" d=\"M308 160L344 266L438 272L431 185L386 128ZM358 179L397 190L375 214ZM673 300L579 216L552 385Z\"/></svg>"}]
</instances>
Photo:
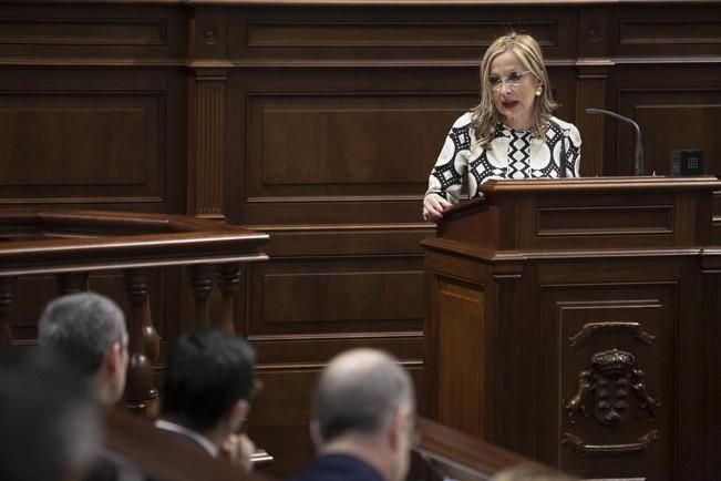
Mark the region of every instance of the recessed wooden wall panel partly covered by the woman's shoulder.
<instances>
[{"instance_id":1,"label":"recessed wooden wall panel partly covered by the woman's shoulder","mask_svg":"<svg viewBox=\"0 0 721 481\"><path fill-rule=\"evenodd\" d=\"M251 95L249 113L248 192L262 201L420 194L428 153L463 110L436 95L328 93Z\"/></svg>"}]
</instances>

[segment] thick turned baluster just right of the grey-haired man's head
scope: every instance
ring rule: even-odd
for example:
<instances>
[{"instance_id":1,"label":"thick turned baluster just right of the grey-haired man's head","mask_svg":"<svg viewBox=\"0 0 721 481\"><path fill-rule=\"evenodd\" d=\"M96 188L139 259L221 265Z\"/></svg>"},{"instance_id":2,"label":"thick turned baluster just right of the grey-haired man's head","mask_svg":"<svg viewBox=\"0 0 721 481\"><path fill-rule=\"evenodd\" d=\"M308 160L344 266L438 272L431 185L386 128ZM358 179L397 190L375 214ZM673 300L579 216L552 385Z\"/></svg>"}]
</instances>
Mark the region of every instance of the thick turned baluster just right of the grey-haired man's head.
<instances>
[{"instance_id":1,"label":"thick turned baluster just right of the grey-haired man's head","mask_svg":"<svg viewBox=\"0 0 721 481\"><path fill-rule=\"evenodd\" d=\"M153 378L159 338L151 320L148 282L145 269L125 272L131 310L127 315L130 364L125 406L140 416L154 419L158 412L158 391Z\"/></svg>"}]
</instances>

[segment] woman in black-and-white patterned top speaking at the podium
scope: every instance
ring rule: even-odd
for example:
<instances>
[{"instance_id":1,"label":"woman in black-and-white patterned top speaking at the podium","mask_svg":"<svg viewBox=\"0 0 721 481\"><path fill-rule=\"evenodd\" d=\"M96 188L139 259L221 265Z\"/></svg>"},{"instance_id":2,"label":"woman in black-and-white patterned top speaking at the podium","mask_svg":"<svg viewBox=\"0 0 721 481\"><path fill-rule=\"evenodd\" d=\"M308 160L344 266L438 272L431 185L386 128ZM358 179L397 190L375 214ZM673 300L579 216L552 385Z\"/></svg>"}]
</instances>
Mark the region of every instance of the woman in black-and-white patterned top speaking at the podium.
<instances>
[{"instance_id":1,"label":"woman in black-and-white patterned top speaking at the podium","mask_svg":"<svg viewBox=\"0 0 721 481\"><path fill-rule=\"evenodd\" d=\"M451 127L429 177L423 218L437 221L491 178L576 177L580 134L553 116L548 74L538 42L509 33L496 39L481 61L481 103Z\"/></svg>"}]
</instances>

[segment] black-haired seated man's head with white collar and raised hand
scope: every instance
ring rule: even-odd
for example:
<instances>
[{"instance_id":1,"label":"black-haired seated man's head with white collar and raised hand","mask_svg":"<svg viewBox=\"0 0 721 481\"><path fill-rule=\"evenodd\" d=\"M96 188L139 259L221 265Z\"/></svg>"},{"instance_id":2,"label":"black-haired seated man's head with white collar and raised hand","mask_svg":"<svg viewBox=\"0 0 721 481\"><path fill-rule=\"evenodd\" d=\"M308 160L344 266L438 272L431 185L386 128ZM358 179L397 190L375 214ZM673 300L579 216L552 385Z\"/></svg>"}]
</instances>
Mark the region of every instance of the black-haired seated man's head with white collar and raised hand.
<instances>
[{"instance_id":1,"label":"black-haired seated man's head with white collar and raised hand","mask_svg":"<svg viewBox=\"0 0 721 481\"><path fill-rule=\"evenodd\" d=\"M257 386L254 370L255 350L240 337L215 328L181 336L167 358L155 426L250 471L255 447L239 431Z\"/></svg>"}]
</instances>

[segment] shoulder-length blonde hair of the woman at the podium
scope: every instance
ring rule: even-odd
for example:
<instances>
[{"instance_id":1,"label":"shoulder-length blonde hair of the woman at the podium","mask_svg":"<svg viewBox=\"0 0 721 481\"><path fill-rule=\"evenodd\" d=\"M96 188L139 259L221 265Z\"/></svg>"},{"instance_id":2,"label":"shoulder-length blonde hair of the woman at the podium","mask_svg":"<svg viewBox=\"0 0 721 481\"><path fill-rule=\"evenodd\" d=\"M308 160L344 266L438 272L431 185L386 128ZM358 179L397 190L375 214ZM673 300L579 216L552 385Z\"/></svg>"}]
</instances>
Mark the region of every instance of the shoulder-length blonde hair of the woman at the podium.
<instances>
[{"instance_id":1,"label":"shoulder-length blonde hair of the woman at the podium","mask_svg":"<svg viewBox=\"0 0 721 481\"><path fill-rule=\"evenodd\" d=\"M488 88L491 64L502 53L516 54L524 69L529 70L539 81L540 95L533 104L532 124L534 136L542 139L546 133L548 119L558 106L550 93L548 73L544 65L540 47L536 39L524 33L511 32L497 38L486 50L481 61L481 103L473 109L472 127L477 142L487 147L493 140L496 123L502 121L501 114L493 103L493 91Z\"/></svg>"}]
</instances>

